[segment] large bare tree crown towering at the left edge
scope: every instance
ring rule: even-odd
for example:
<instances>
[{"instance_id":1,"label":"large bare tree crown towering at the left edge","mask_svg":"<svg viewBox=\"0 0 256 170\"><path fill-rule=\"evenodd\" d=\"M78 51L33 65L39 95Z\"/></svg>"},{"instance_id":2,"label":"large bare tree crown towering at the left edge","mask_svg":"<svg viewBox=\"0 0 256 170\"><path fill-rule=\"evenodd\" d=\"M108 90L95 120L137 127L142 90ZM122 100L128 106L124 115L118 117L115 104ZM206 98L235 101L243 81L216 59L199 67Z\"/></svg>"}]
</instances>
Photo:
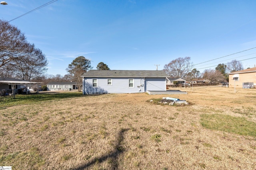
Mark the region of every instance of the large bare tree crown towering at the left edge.
<instances>
[{"instance_id":1,"label":"large bare tree crown towering at the left edge","mask_svg":"<svg viewBox=\"0 0 256 170\"><path fill-rule=\"evenodd\" d=\"M40 49L26 41L24 33L0 20L0 72L2 75L31 80L47 70L48 62Z\"/></svg>"}]
</instances>

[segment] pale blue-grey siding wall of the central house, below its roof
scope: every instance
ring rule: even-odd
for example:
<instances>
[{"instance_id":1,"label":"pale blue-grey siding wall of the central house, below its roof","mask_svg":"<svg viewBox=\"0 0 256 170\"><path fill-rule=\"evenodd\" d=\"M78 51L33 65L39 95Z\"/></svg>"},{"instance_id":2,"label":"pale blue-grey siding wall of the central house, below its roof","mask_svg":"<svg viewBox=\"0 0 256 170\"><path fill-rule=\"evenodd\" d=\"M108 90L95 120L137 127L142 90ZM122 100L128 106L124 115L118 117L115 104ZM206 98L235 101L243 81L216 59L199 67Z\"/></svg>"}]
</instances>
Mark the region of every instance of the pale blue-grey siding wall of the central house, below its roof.
<instances>
[{"instance_id":1,"label":"pale blue-grey siding wall of the central house, below its roof","mask_svg":"<svg viewBox=\"0 0 256 170\"><path fill-rule=\"evenodd\" d=\"M97 79L97 87L92 87L92 79ZM112 85L108 85L112 79ZM129 79L134 80L134 87L129 87ZM147 84L146 84L147 82ZM140 93L146 90L166 90L165 78L83 78L83 94L96 93Z\"/></svg>"}]
</instances>

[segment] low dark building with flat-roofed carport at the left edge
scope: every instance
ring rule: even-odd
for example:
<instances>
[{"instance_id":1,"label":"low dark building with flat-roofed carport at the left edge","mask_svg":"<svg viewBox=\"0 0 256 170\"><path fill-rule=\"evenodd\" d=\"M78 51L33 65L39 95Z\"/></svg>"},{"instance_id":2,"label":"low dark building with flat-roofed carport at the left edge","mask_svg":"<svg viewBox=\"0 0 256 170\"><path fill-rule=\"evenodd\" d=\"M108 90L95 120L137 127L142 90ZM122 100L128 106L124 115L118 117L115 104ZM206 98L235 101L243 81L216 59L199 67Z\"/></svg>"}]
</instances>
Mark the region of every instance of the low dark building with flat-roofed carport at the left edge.
<instances>
[{"instance_id":1,"label":"low dark building with flat-roofed carport at the left edge","mask_svg":"<svg viewBox=\"0 0 256 170\"><path fill-rule=\"evenodd\" d=\"M8 78L8 77L0 77L0 90L1 95L4 93L14 94L14 93L28 93L30 86L35 85L39 86L42 84L41 82L31 82L28 80L21 80L17 78ZM38 89L38 88L37 88Z\"/></svg>"}]
</instances>

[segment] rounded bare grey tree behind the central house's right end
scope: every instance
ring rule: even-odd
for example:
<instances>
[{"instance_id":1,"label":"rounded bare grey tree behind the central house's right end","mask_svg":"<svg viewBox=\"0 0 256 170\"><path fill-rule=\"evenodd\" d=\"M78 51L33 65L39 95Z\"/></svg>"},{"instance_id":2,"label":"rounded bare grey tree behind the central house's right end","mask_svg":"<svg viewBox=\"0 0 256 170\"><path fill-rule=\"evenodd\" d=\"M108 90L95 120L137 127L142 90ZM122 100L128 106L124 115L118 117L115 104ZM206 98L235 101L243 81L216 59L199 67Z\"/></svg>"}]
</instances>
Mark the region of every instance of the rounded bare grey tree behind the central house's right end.
<instances>
[{"instance_id":1,"label":"rounded bare grey tree behind the central house's right end","mask_svg":"<svg viewBox=\"0 0 256 170\"><path fill-rule=\"evenodd\" d=\"M184 78L191 69L190 57L178 58L164 65L164 71L173 78Z\"/></svg>"}]
</instances>

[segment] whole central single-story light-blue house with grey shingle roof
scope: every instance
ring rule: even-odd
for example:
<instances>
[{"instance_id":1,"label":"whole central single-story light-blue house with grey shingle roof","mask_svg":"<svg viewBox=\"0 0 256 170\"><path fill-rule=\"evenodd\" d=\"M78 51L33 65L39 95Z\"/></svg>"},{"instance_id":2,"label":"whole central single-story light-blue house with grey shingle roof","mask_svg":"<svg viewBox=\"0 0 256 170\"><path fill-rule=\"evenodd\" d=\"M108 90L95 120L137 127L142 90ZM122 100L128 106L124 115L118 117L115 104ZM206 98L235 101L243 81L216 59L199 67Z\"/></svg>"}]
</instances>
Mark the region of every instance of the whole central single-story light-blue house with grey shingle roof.
<instances>
[{"instance_id":1,"label":"whole central single-story light-blue house with grey shingle roof","mask_svg":"<svg viewBox=\"0 0 256 170\"><path fill-rule=\"evenodd\" d=\"M162 70L89 70L82 74L83 94L166 90L167 76Z\"/></svg>"}]
</instances>

